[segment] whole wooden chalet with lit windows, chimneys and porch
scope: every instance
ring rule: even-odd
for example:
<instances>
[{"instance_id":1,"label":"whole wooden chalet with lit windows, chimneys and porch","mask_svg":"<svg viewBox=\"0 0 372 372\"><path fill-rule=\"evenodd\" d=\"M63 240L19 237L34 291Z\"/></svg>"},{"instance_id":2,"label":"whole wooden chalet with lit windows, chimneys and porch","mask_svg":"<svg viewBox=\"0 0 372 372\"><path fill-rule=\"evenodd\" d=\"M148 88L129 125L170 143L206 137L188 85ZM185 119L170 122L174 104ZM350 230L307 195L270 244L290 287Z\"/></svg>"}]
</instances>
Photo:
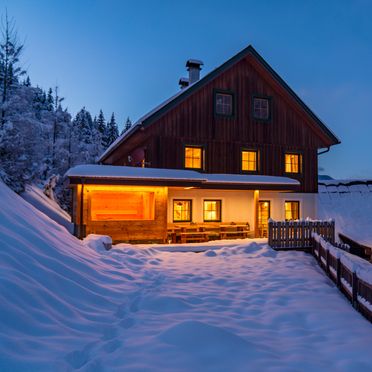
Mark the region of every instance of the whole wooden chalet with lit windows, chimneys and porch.
<instances>
[{"instance_id":1,"label":"whole wooden chalet with lit windows, chimneys and porch","mask_svg":"<svg viewBox=\"0 0 372 372\"><path fill-rule=\"evenodd\" d=\"M318 155L340 143L248 46L179 92L100 157L68 172L76 235L115 241L265 237L268 219L316 218Z\"/></svg>"}]
</instances>

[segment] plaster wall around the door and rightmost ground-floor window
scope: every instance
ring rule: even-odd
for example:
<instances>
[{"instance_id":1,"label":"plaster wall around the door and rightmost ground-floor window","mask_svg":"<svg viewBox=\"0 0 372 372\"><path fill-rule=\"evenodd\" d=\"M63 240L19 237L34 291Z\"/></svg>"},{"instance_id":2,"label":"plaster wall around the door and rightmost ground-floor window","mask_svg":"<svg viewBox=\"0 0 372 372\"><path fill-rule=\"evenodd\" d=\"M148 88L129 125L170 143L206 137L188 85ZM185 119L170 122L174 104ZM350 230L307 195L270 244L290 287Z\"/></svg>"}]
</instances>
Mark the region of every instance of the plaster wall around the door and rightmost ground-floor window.
<instances>
[{"instance_id":1,"label":"plaster wall around the door and rightmost ground-floor window","mask_svg":"<svg viewBox=\"0 0 372 372\"><path fill-rule=\"evenodd\" d=\"M308 193L280 193L260 191L259 200L270 200L271 218L276 221L284 221L284 203L286 201L300 202L300 218L318 218L317 195Z\"/></svg>"}]
</instances>

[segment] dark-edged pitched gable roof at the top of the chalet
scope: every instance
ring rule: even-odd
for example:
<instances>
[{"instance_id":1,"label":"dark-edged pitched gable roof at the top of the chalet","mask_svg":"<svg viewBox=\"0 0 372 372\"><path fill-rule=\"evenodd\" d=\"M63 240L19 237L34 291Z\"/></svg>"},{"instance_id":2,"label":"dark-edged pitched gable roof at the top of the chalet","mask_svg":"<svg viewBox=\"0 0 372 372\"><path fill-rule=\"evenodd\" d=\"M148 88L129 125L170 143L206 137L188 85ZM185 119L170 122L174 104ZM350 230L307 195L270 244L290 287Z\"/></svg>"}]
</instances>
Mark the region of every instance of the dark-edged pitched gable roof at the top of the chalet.
<instances>
[{"instance_id":1,"label":"dark-edged pitched gable roof at the top of the chalet","mask_svg":"<svg viewBox=\"0 0 372 372\"><path fill-rule=\"evenodd\" d=\"M203 87L211 80L213 80L216 76L221 74L222 72L226 71L232 65L240 61L241 59L245 58L248 55L252 55L256 58L256 60L269 72L269 74L276 80L279 85L281 85L289 95L305 110L305 112L315 121L318 125L320 130L331 140L332 145L336 145L341 143L341 141L337 138L337 136L320 120L314 112L302 101L302 99L288 86L288 84L271 68L271 66L260 56L260 54L253 48L252 45L249 45L245 49L241 50L239 53L235 54L229 60L224 62L219 67L215 68L200 80L196 81L195 83L189 85L188 87L180 90L175 95L170 97L169 99L165 100L159 106L155 107L153 110L149 111L147 114L142 116L138 119L135 124L121 136L119 136L107 149L106 151L100 156L98 159L99 161L103 161L107 158L113 150L115 150L121 143L123 143L127 138L132 136L141 127L146 127L152 124L156 119L162 116L165 112L169 111L176 105L178 105L181 101L189 97L193 94L196 90Z\"/></svg>"}]
</instances>

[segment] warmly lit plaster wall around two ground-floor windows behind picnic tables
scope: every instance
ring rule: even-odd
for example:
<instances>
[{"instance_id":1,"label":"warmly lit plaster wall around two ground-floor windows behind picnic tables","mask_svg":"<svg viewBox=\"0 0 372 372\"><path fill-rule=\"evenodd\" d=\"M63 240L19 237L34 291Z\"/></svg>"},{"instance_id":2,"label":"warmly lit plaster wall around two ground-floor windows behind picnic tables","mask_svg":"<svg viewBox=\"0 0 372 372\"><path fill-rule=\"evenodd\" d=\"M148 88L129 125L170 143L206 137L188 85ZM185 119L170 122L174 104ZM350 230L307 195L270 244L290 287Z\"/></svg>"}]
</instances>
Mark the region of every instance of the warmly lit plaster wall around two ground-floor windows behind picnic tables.
<instances>
[{"instance_id":1,"label":"warmly lit plaster wall around two ground-floor windows behind picnic tables","mask_svg":"<svg viewBox=\"0 0 372 372\"><path fill-rule=\"evenodd\" d=\"M173 222L173 200L192 200L193 222L203 222L203 200L221 200L222 222L249 222L254 223L253 191L228 191L205 189L168 189L168 222Z\"/></svg>"}]
</instances>

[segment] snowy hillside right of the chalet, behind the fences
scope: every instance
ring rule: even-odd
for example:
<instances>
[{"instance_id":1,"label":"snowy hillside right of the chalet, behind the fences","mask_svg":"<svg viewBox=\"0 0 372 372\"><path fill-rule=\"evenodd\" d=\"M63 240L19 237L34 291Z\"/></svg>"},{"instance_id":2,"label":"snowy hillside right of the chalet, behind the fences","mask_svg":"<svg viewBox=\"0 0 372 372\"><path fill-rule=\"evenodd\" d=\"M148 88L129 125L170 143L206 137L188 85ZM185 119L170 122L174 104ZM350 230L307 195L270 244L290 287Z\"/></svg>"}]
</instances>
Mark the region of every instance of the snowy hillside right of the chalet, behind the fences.
<instances>
[{"instance_id":1,"label":"snowy hillside right of the chalet, behind the fences","mask_svg":"<svg viewBox=\"0 0 372 372\"><path fill-rule=\"evenodd\" d=\"M372 246L372 180L319 182L319 218L333 218L336 231Z\"/></svg>"}]
</instances>

